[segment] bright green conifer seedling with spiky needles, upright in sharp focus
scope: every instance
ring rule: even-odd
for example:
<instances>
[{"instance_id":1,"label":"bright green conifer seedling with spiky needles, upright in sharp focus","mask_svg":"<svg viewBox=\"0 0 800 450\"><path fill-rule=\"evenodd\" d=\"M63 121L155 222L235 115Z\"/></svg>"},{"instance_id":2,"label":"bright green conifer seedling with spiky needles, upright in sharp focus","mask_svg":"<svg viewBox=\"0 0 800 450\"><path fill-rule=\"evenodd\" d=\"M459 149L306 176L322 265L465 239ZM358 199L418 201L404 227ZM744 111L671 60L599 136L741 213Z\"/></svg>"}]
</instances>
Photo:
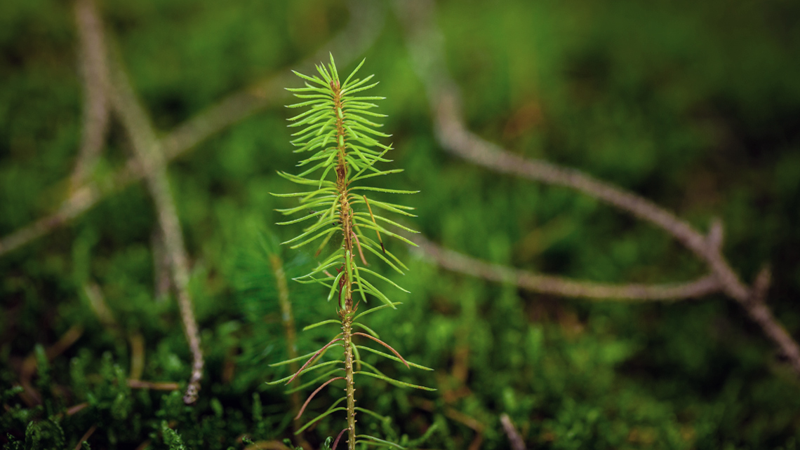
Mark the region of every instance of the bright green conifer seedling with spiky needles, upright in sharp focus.
<instances>
[{"instance_id":1,"label":"bright green conifer seedling with spiky needles, upright in sharp focus","mask_svg":"<svg viewBox=\"0 0 800 450\"><path fill-rule=\"evenodd\" d=\"M289 119L292 122L289 126L298 128L298 131L293 134L294 140L291 143L297 147L295 153L306 153L310 156L298 163L298 167L301 168L300 174L294 175L286 172L279 172L278 174L289 181L303 185L305 189L312 190L274 194L276 197L294 197L299 201L299 205L278 209L279 212L286 215L302 214L298 219L282 222L281 225L294 225L300 222L306 224L306 228L303 229L302 233L284 242L284 244L291 245L292 249L307 245L307 248L314 249L315 257L320 257L319 263L314 270L302 277L295 278L295 281L323 285L326 287L327 301L330 302L332 299L336 299L338 320L321 321L317 324L306 326L306 329L338 324L342 329L342 333L339 333L333 340L319 348L317 352L310 353L305 357L293 357L290 360L273 364L289 364L310 356L299 370L294 371L294 375L283 380L270 382L270 384L281 382L289 384L299 376L302 376L303 373L314 370L314 368L321 368L331 364L339 366L338 369L334 369L310 383L313 385L318 380L334 376L324 381L311 393L300 412L298 412L297 418L302 416L310 400L328 384L343 380L346 396L303 425L298 431L306 429L310 424L322 420L334 412L345 411L347 426L334 441L334 448L342 438L342 434L347 432L347 446L350 450L354 450L358 442L366 442L378 447L402 448L398 444L387 440L356 433L357 411L380 417L376 412L355 406L356 375L362 374L378 378L402 388L433 390L417 384L394 380L378 371L378 368L373 365L362 362L358 348L366 347L355 343L356 339L366 338L367 341L378 343L388 348L394 353L394 356L367 348L370 352L384 356L388 360L401 362L406 368L410 368L413 365L415 368L428 369L419 364L408 363L399 352L378 339L378 334L370 327L358 322L358 319L367 312L371 313L384 308L396 309L396 305L399 305L398 302L390 301L389 297L376 287L379 283L386 282L395 288L408 292L380 273L372 269L366 269L366 266L370 265L367 261L368 255L370 258L373 256L378 257L398 273L402 274L400 268L406 269L400 259L386 249L381 236L384 234L389 237L395 237L406 243L410 243L410 241L398 233L386 229L386 226L394 226L406 232L416 233L414 230L398 225L396 222L375 213L376 211L378 213L390 211L414 217L414 214L409 212L411 208L382 201L370 201L366 195L374 192L401 194L414 192L382 189L363 184L365 180L370 178L402 171L400 169L380 170L375 167L378 162L391 162L384 157L390 151L391 146L384 145L376 139L377 137L389 137L390 135L379 132L377 129L382 125L374 122L376 117L385 117L383 114L372 111L377 107L372 102L382 98L362 94L363 91L376 86L378 83L370 83L371 78L373 78L372 75L363 79L355 78L355 74L363 64L364 62L362 61L344 82L339 78L332 55L329 66L317 66L318 75L308 76L295 72L306 83L304 87L289 89L296 97L301 99L301 102L289 107L306 107L307 110ZM373 209L372 205L381 210ZM378 225L378 223L382 225ZM374 233L374 235L369 237L365 233ZM341 237L341 244L331 245L331 242L338 241L332 241L332 237L337 235ZM377 242L374 241L373 237L377 238ZM331 247L334 248L331 249ZM371 278L371 280L368 278ZM356 298L354 298L355 293L358 293ZM357 315L361 302L364 301L366 303L370 298L378 299L384 305ZM358 326L358 328L364 329L370 334L356 332L354 331L354 326ZM342 347L342 359L323 361L323 357L326 356L328 350L338 347ZM358 370L356 370L355 366L358 366ZM341 375L341 371L344 371L344 376ZM342 400L346 400L346 405L343 407L337 406Z\"/></svg>"}]
</instances>

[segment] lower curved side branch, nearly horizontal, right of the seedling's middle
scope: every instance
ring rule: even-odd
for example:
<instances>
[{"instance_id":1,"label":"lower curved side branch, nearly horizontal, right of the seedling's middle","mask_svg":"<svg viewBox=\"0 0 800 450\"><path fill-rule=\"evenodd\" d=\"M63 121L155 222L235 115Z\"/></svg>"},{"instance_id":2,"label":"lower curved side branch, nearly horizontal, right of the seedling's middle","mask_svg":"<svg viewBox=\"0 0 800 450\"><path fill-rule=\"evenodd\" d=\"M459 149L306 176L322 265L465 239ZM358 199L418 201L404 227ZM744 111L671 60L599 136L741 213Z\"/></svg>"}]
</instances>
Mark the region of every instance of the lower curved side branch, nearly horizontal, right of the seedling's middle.
<instances>
[{"instance_id":1,"label":"lower curved side branch, nearly horizontal, right of the seedling's middle","mask_svg":"<svg viewBox=\"0 0 800 450\"><path fill-rule=\"evenodd\" d=\"M426 257L430 257L444 269L490 281L511 283L537 293L594 300L677 301L702 297L720 290L720 285L713 275L688 283L664 285L612 285L554 277L479 261L462 253L443 249L420 235L410 238L414 239Z\"/></svg>"}]
</instances>

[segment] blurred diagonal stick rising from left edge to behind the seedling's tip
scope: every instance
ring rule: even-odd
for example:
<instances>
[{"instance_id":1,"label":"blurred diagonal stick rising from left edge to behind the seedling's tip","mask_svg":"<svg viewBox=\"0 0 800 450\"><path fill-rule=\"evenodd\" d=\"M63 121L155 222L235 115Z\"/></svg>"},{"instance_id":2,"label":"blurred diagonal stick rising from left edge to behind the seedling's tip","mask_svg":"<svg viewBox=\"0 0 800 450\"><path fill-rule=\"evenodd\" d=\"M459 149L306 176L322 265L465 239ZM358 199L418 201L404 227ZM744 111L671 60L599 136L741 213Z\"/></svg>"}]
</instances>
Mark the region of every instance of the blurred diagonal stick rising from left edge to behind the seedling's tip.
<instances>
[{"instance_id":1,"label":"blurred diagonal stick rising from left edge to behind the seedling's tip","mask_svg":"<svg viewBox=\"0 0 800 450\"><path fill-rule=\"evenodd\" d=\"M341 58L345 64L352 62L358 54L362 54L378 37L385 14L379 2L350 2L350 11L352 18L345 30L342 30L318 54L292 66L301 69L313 67L314 62L327 57L328 51L341 55L337 58ZM238 93L230 94L191 117L182 125L178 125L170 133L166 133L161 139L164 160L172 161L188 153L196 145L219 133L222 129L226 129L258 111L274 106L278 101L286 98L286 90L283 90L283 87L289 86L290 80L294 81L289 74L289 70L280 70L278 74L270 76L262 82L254 83ZM144 176L142 167L135 158L131 158L125 166L117 169L103 182L87 182L81 189L72 193L56 212L0 238L0 257L54 229L61 228L75 217L86 213L98 201L141 180Z\"/></svg>"}]
</instances>

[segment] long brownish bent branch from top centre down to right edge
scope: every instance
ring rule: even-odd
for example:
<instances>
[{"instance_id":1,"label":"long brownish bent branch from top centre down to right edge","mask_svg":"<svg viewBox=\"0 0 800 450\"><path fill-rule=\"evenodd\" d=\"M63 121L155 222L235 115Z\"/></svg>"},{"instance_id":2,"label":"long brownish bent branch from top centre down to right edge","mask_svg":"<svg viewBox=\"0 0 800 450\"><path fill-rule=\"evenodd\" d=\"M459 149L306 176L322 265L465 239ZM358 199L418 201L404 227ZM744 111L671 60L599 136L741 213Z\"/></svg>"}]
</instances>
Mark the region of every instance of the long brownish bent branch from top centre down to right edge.
<instances>
[{"instance_id":1,"label":"long brownish bent branch from top centre down to right edge","mask_svg":"<svg viewBox=\"0 0 800 450\"><path fill-rule=\"evenodd\" d=\"M406 28L406 43L434 115L436 137L444 149L475 164L501 173L511 173L551 185L578 190L658 226L706 262L723 293L738 302L750 318L781 350L800 375L800 346L774 318L761 294L739 279L722 256L722 225L715 221L706 236L673 213L606 181L577 169L523 158L470 132L464 125L458 88L445 66L442 35L434 24L430 0L396 0L395 10ZM761 297L759 297L761 296Z\"/></svg>"}]
</instances>

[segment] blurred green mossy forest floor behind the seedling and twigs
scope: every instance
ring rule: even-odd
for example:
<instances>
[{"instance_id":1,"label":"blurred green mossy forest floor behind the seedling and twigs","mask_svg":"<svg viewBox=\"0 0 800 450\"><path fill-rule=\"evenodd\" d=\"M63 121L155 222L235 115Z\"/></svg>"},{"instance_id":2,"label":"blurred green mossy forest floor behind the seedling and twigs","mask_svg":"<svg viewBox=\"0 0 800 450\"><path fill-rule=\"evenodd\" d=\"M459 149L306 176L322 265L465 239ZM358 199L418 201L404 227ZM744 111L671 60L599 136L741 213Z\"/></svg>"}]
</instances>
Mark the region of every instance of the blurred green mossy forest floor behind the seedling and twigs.
<instances>
[{"instance_id":1,"label":"blurred green mossy forest floor behind the seedling and twigs","mask_svg":"<svg viewBox=\"0 0 800 450\"><path fill-rule=\"evenodd\" d=\"M373 6L381 28L358 59L381 82L374 94L386 97L391 166L406 170L385 182L422 191L406 203L426 237L482 260L592 281L705 273L676 241L626 213L444 152L397 8ZM351 15L334 0L106 0L100 10L161 133L326 51ZM800 338L800 3L447 0L435 14L470 129L630 189L698 229L720 217L730 264L746 283L771 265L769 305ZM0 235L69 194L82 95L72 3L0 2ZM92 448L177 448L165 425L188 448L291 436L290 397L264 384L286 375L267 365L286 356L286 344L273 247L262 243L298 230L272 225L273 209L289 203L269 195L293 189L275 175L296 163L286 102L169 167L206 352L198 404L185 406L179 391L125 386L134 336L145 343L143 380L185 384L190 374L174 298L157 295L157 221L139 183L0 258L0 444L74 448L93 424ZM132 154L118 121L107 141L97 180ZM398 312L367 323L435 372L378 367L438 391L364 380L360 404L392 417L390 425L363 417L367 430L414 440L436 424L420 447L510 448L505 412L529 448L789 449L800 440L800 380L726 297L549 297L393 249L409 261L398 282L412 294L396 292ZM313 257L278 252L290 273ZM98 286L116 325L98 319L87 285ZM295 284L290 292L298 328L334 317L324 293ZM48 363L45 349L73 327L78 340ZM299 351L325 341L301 333ZM37 405L10 390L29 355L38 358ZM322 392L312 408L335 398ZM66 414L82 402L89 408ZM318 447L341 428L341 417L323 420L306 439Z\"/></svg>"}]
</instances>

